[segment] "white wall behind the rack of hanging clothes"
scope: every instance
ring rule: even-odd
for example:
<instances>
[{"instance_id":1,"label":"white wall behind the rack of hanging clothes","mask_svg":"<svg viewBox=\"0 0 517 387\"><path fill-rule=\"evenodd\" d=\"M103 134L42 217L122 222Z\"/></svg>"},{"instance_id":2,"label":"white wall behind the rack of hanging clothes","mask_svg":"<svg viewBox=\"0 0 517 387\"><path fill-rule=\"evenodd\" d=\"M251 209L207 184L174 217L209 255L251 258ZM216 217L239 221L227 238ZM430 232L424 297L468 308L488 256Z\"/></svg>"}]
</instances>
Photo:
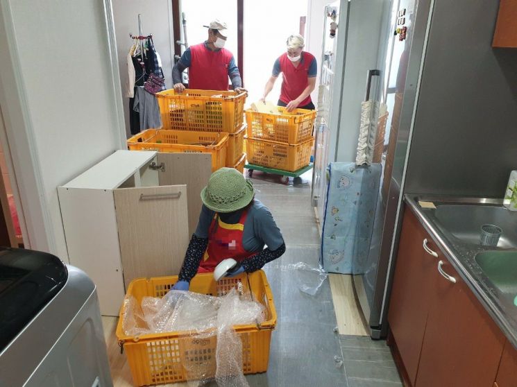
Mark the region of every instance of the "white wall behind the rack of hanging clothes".
<instances>
[{"instance_id":1,"label":"white wall behind the rack of hanging clothes","mask_svg":"<svg viewBox=\"0 0 517 387\"><path fill-rule=\"evenodd\" d=\"M129 34L138 35L138 14L142 15L144 35L153 34L156 51L162 59L165 87L172 87L173 67L173 29L171 0L112 0L115 35L117 36L117 55L121 83L121 96L124 98L124 119L126 134L129 136L129 102L126 94L128 80L127 56L133 40Z\"/></svg>"}]
</instances>

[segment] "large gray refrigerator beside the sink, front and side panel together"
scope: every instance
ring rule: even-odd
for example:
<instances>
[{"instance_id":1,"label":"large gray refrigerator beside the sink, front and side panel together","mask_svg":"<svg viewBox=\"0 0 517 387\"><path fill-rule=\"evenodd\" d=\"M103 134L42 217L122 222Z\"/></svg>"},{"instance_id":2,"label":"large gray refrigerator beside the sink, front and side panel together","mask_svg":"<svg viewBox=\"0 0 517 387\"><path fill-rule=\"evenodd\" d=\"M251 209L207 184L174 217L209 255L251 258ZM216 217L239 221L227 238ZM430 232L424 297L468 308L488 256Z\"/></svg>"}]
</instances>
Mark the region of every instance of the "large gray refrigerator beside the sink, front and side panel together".
<instances>
[{"instance_id":1,"label":"large gray refrigerator beside the sink, front and side panel together","mask_svg":"<svg viewBox=\"0 0 517 387\"><path fill-rule=\"evenodd\" d=\"M500 198L515 167L517 53L493 49L498 1L392 0L379 65L389 117L364 273L373 338L386 336L403 194Z\"/></svg>"}]
</instances>

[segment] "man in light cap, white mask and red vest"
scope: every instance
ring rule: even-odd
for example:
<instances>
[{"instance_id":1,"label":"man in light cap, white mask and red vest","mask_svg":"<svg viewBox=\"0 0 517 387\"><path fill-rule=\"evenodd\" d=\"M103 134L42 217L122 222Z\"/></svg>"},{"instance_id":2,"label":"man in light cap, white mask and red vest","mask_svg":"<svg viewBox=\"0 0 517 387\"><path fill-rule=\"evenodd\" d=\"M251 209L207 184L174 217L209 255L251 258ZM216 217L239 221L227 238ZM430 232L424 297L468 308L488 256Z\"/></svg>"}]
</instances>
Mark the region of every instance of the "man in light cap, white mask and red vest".
<instances>
[{"instance_id":1,"label":"man in light cap, white mask and red vest","mask_svg":"<svg viewBox=\"0 0 517 387\"><path fill-rule=\"evenodd\" d=\"M215 19L208 28L208 40L190 46L181 55L172 69L174 89L180 93L185 90L181 73L189 68L189 88L202 90L228 90L228 77L236 92L245 92L241 75L235 65L232 53L224 48L226 43L226 23Z\"/></svg>"}]
</instances>

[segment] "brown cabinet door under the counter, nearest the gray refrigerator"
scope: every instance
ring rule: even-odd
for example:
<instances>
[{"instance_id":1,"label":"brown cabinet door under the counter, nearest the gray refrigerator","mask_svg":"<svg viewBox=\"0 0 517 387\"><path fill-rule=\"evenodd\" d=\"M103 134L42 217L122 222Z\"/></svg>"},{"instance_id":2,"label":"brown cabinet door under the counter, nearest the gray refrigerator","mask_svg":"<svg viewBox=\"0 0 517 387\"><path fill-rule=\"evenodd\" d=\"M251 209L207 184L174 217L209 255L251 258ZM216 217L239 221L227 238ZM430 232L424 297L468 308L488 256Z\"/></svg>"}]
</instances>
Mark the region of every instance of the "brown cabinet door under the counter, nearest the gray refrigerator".
<instances>
[{"instance_id":1,"label":"brown cabinet door under the counter, nearest the gray refrigerator","mask_svg":"<svg viewBox=\"0 0 517 387\"><path fill-rule=\"evenodd\" d=\"M423 226L406 209L398 248L388 322L409 380L414 385L425 332L429 298L438 259L423 249L423 242L439 253Z\"/></svg>"}]
</instances>

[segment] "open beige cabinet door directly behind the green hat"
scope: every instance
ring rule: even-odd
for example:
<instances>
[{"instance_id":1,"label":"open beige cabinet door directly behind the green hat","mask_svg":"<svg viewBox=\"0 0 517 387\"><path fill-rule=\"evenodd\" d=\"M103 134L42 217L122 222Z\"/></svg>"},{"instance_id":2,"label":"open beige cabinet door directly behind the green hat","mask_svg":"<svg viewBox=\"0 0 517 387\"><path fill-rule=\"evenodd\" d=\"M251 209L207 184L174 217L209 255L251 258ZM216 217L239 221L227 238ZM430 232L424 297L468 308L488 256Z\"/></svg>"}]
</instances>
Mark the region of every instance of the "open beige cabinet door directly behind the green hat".
<instances>
[{"instance_id":1,"label":"open beige cabinet door directly behind the green hat","mask_svg":"<svg viewBox=\"0 0 517 387\"><path fill-rule=\"evenodd\" d=\"M207 153L158 153L160 186L187 184L189 235L194 234L201 212L201 190L212 174L212 155Z\"/></svg>"}]
</instances>

